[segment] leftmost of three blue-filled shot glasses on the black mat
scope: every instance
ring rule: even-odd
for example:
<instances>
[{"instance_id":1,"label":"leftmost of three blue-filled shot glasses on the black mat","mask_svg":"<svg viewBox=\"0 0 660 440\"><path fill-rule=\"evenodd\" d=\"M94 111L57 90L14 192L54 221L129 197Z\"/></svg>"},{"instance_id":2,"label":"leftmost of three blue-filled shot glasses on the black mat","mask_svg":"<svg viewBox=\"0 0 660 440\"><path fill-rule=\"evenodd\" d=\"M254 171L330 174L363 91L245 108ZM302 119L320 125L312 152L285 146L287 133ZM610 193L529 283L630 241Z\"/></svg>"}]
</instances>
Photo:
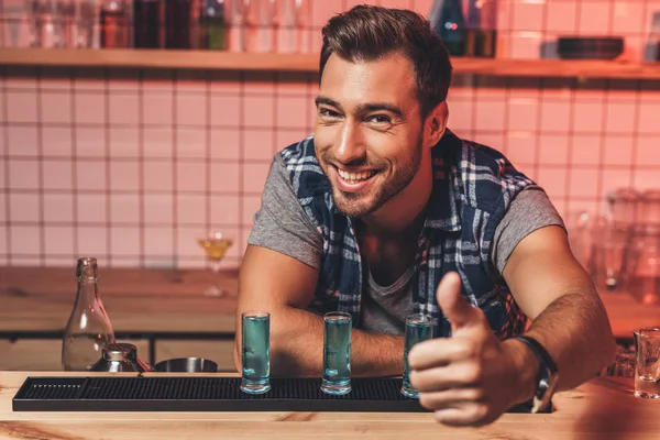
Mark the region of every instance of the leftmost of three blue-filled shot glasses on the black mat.
<instances>
[{"instance_id":1,"label":"leftmost of three blue-filled shot glasses on the black mat","mask_svg":"<svg viewBox=\"0 0 660 440\"><path fill-rule=\"evenodd\" d=\"M250 310L241 315L243 372L241 391L263 394L271 389L271 314Z\"/></svg>"}]
</instances>

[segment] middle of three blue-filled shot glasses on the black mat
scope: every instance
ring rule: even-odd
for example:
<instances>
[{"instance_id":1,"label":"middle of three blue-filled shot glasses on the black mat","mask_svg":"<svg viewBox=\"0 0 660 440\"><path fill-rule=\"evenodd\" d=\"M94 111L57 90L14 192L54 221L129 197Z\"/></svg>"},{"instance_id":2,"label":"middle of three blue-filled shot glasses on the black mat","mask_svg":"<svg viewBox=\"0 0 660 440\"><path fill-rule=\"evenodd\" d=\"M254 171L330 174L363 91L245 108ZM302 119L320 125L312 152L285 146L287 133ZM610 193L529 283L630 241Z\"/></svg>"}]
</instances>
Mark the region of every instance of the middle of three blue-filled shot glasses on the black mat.
<instances>
[{"instance_id":1,"label":"middle of three blue-filled shot glasses on the black mat","mask_svg":"<svg viewBox=\"0 0 660 440\"><path fill-rule=\"evenodd\" d=\"M351 392L351 315L331 311L323 316L323 393Z\"/></svg>"}]
</instances>

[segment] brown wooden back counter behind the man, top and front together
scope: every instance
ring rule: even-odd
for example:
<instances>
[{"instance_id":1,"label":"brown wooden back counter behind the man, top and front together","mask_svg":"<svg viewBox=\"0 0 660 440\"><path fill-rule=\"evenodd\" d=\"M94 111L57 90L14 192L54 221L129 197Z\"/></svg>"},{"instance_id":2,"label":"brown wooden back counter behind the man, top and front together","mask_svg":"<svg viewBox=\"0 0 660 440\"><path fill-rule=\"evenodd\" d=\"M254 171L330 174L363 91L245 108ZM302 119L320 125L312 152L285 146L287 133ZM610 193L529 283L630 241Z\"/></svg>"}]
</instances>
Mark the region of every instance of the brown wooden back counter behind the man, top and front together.
<instances>
[{"instance_id":1,"label":"brown wooden back counter behind the man, top and front together","mask_svg":"<svg viewBox=\"0 0 660 440\"><path fill-rule=\"evenodd\" d=\"M234 372L238 272L223 271L217 279L227 297L204 295L215 280L204 270L101 267L99 288L118 340L134 343L143 360L200 356ZM619 340L630 340L636 327L660 327L660 306L645 306L625 293L601 297ZM59 370L61 333L75 299L73 266L0 266L0 371Z\"/></svg>"}]
</instances>

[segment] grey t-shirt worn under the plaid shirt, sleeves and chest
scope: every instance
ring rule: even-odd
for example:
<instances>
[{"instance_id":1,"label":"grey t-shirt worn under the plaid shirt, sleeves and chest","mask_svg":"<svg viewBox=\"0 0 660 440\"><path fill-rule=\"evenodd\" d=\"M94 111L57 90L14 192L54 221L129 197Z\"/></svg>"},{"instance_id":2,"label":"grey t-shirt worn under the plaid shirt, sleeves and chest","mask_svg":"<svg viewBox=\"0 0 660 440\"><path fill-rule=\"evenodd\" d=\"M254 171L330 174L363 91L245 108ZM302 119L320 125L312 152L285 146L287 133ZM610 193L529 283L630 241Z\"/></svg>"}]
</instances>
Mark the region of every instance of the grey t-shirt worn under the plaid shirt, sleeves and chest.
<instances>
[{"instance_id":1,"label":"grey t-shirt worn under the plaid shirt, sleeves and chest","mask_svg":"<svg viewBox=\"0 0 660 440\"><path fill-rule=\"evenodd\" d=\"M516 196L495 229L492 260L502 274L516 245L537 229L557 224L564 228L557 209L538 186L531 186ZM248 242L268 248L319 268L322 238L298 202L288 178L288 170L279 155L271 165L262 206L254 218L254 228ZM413 279L410 267L391 286L380 286L365 267L362 322L366 331L403 334L406 316L413 311Z\"/></svg>"}]
</instances>

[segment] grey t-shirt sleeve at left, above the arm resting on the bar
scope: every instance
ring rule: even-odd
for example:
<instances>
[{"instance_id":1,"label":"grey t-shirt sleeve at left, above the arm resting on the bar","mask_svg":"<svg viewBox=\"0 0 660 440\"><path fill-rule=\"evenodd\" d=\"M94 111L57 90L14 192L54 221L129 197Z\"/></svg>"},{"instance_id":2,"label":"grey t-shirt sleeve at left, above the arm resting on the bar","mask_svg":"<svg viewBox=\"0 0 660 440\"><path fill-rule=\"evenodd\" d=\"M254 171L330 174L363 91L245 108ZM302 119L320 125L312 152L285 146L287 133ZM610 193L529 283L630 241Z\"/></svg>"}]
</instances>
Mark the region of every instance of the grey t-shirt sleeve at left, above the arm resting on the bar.
<instances>
[{"instance_id":1,"label":"grey t-shirt sleeve at left, above the arm resting on the bar","mask_svg":"<svg viewBox=\"0 0 660 440\"><path fill-rule=\"evenodd\" d=\"M322 239L300 206L282 157L271 164L248 243L267 248L319 268Z\"/></svg>"}]
</instances>

